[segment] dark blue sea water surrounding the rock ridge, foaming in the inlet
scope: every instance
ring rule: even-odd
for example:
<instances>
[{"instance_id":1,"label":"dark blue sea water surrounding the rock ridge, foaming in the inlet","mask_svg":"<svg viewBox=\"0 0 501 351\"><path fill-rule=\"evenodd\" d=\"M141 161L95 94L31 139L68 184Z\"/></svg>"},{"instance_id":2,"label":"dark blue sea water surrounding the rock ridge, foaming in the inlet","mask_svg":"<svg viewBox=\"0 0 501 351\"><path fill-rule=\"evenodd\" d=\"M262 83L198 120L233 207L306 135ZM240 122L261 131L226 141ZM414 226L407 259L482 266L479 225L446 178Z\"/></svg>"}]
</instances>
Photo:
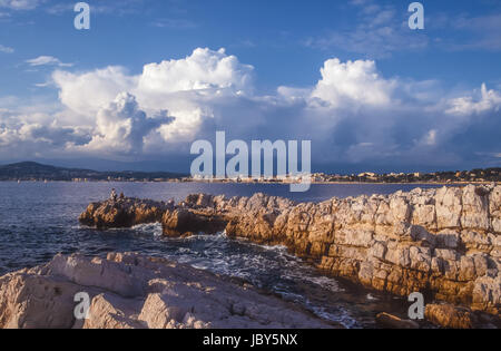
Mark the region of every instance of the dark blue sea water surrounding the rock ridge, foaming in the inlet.
<instances>
[{"instance_id":1,"label":"dark blue sea water surrounding the rock ridge, foaming in the inlet","mask_svg":"<svg viewBox=\"0 0 501 351\"><path fill-rule=\"evenodd\" d=\"M262 192L298 202L321 202L416 186L317 184L307 193L289 193L288 186L281 184L0 182L0 275L47 263L57 253L140 252L245 279L347 328L373 326L377 312L404 313L405 302L322 276L284 247L232 241L224 234L165 238L159 224L97 231L80 226L78 216L90 202L106 198L111 188L126 196L157 201L180 201L193 193L252 196Z\"/></svg>"}]
</instances>

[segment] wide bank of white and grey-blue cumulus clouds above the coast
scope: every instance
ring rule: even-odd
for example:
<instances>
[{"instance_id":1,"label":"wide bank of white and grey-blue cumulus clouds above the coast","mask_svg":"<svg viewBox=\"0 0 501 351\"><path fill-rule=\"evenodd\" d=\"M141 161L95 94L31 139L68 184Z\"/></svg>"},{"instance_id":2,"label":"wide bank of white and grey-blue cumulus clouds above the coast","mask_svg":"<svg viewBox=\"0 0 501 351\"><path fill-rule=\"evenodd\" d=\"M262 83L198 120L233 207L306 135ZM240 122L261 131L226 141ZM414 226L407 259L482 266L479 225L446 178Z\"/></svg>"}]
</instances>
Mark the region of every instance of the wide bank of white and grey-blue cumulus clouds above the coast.
<instances>
[{"instance_id":1,"label":"wide bank of white and grey-blue cumulus clouds above the coast","mask_svg":"<svg viewBox=\"0 0 501 351\"><path fill-rule=\"evenodd\" d=\"M436 81L385 78L372 60L336 58L321 76L308 87L259 95L252 66L203 48L139 75L117 66L59 68L58 111L0 109L0 157L11 149L27 157L188 155L194 140L225 130L232 139L310 139L316 164L500 163L501 94L485 85L458 96Z\"/></svg>"}]
</instances>

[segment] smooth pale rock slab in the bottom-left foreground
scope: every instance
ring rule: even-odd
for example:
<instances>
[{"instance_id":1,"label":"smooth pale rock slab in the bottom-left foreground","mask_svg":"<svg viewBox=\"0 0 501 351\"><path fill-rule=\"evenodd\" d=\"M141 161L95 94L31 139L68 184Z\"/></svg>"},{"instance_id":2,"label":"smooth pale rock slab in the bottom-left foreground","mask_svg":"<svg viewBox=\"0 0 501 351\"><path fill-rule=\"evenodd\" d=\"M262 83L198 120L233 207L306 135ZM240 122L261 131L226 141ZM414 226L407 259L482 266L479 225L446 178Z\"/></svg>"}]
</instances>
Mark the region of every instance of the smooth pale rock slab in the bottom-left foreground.
<instances>
[{"instance_id":1,"label":"smooth pale rock slab in the bottom-left foreground","mask_svg":"<svg viewBox=\"0 0 501 351\"><path fill-rule=\"evenodd\" d=\"M87 293L87 320L73 311ZM242 281L163 259L57 255L0 277L1 329L340 328Z\"/></svg>"}]
</instances>

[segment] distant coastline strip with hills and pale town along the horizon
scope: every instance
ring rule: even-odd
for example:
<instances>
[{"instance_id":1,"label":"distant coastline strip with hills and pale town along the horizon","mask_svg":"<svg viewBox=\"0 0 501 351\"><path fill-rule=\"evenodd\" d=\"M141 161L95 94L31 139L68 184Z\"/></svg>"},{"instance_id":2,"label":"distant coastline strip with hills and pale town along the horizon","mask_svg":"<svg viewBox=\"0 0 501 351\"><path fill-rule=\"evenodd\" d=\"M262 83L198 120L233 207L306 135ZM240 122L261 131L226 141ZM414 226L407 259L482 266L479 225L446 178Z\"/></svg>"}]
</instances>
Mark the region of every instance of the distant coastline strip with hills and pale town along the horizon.
<instances>
[{"instance_id":1,"label":"distant coastline strip with hills and pale town along the horizon","mask_svg":"<svg viewBox=\"0 0 501 351\"><path fill-rule=\"evenodd\" d=\"M91 169L62 168L23 162L0 166L2 182L213 182L213 183L296 183L302 176L274 177L234 177L234 178L200 178L186 174L168 172L98 172ZM360 174L325 174L311 175L314 184L328 183L397 183L397 184L462 184L462 183L499 183L501 168L485 168L472 170L450 170L435 173L385 173L364 172Z\"/></svg>"}]
</instances>

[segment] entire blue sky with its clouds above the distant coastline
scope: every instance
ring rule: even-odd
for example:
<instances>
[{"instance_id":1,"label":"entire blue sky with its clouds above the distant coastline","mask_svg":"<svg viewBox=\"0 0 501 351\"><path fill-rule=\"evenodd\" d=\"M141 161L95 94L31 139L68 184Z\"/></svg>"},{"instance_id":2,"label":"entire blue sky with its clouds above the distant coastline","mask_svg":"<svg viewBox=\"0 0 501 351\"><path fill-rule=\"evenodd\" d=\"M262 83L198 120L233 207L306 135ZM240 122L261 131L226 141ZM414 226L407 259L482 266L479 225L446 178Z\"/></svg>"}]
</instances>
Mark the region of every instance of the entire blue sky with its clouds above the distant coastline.
<instances>
[{"instance_id":1,"label":"entire blue sky with its clouds above the distant coastline","mask_svg":"<svg viewBox=\"0 0 501 351\"><path fill-rule=\"evenodd\" d=\"M311 140L316 172L501 166L501 2L0 0L0 163L188 172Z\"/></svg>"}]
</instances>

